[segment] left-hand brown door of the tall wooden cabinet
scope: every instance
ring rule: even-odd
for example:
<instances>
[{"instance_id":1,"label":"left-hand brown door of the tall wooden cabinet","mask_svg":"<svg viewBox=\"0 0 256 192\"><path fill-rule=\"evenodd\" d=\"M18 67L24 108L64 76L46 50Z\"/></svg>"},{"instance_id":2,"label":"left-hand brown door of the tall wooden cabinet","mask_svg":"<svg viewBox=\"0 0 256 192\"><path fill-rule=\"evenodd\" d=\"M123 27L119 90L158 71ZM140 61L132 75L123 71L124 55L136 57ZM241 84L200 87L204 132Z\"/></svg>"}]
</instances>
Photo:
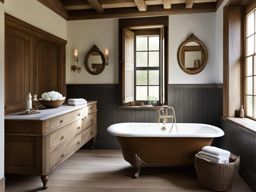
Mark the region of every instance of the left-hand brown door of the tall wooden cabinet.
<instances>
[{"instance_id":1,"label":"left-hand brown door of the tall wooden cabinet","mask_svg":"<svg viewBox=\"0 0 256 192\"><path fill-rule=\"evenodd\" d=\"M5 112L22 111L31 91L32 41L28 34L6 26L5 31Z\"/></svg>"}]
</instances>

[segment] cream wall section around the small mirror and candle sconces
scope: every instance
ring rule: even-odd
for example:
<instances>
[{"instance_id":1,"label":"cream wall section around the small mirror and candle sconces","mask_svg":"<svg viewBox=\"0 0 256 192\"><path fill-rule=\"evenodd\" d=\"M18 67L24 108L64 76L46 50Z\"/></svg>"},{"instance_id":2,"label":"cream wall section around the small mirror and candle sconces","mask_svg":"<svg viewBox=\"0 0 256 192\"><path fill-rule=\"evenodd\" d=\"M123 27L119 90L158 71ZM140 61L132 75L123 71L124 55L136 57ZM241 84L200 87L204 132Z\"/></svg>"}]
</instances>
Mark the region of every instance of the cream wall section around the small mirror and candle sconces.
<instances>
[{"instance_id":1,"label":"cream wall section around the small mirror and candle sconces","mask_svg":"<svg viewBox=\"0 0 256 192\"><path fill-rule=\"evenodd\" d=\"M118 83L118 19L69 21L67 31L66 82L68 84ZM101 51L105 48L109 49L109 65L99 75L89 74L84 67L84 57L93 45L97 45ZM74 48L79 50L81 73L70 71Z\"/></svg>"}]
</instances>

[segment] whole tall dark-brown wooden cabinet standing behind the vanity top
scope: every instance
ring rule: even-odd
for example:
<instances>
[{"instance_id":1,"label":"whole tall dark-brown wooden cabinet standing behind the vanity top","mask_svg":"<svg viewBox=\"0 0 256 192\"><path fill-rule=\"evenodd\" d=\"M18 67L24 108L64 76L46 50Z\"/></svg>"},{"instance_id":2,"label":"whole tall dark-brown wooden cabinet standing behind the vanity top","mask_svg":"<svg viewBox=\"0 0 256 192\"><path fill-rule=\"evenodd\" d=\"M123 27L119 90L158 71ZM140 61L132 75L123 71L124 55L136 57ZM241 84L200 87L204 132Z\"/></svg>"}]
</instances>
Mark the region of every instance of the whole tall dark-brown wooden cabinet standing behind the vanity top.
<instances>
[{"instance_id":1,"label":"whole tall dark-brown wooden cabinet standing behind the vanity top","mask_svg":"<svg viewBox=\"0 0 256 192\"><path fill-rule=\"evenodd\" d=\"M5 15L5 113L25 109L29 92L66 95L66 41Z\"/></svg>"}]
</instances>

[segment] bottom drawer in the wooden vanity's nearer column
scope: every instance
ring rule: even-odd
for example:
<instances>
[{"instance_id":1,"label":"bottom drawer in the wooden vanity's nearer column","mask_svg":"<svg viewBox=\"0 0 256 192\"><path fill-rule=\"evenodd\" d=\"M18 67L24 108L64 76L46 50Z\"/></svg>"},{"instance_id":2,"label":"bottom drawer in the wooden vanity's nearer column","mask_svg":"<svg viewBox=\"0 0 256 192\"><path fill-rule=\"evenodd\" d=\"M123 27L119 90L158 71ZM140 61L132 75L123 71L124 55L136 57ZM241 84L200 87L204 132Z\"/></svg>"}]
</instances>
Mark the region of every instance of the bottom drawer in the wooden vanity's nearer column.
<instances>
[{"instance_id":1,"label":"bottom drawer in the wooden vanity's nearer column","mask_svg":"<svg viewBox=\"0 0 256 192\"><path fill-rule=\"evenodd\" d=\"M81 135L76 136L70 141L63 144L56 151L50 154L50 167L53 168L57 164L67 159L73 154L79 147L81 147Z\"/></svg>"}]
</instances>

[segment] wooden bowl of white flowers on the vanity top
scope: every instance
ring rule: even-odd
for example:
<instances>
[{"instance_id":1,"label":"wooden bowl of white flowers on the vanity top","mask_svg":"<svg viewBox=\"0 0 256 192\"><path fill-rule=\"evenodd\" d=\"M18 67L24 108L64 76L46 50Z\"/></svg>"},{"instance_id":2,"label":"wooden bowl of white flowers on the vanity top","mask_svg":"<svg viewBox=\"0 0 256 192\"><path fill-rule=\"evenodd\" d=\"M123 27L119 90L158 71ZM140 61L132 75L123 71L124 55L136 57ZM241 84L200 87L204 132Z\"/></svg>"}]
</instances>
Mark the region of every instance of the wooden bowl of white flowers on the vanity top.
<instances>
[{"instance_id":1,"label":"wooden bowl of white flowers on the vanity top","mask_svg":"<svg viewBox=\"0 0 256 192\"><path fill-rule=\"evenodd\" d=\"M45 108L57 108L65 102L65 97L57 91L45 92L41 95L39 99L40 103Z\"/></svg>"}]
</instances>

